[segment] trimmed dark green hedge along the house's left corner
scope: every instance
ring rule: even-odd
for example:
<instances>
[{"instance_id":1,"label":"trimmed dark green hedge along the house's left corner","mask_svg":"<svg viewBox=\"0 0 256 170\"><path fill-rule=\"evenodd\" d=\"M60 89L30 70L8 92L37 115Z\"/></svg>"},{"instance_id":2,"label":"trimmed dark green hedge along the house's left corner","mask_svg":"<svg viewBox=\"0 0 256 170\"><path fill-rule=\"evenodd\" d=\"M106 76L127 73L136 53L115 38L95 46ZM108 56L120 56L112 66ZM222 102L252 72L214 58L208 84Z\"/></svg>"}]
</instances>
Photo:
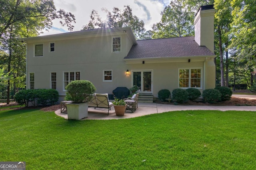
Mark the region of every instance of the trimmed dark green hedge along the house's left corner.
<instances>
[{"instance_id":1,"label":"trimmed dark green hedge along the house's left corner","mask_svg":"<svg viewBox=\"0 0 256 170\"><path fill-rule=\"evenodd\" d=\"M59 100L59 93L54 89L28 89L20 90L15 94L14 99L20 105L29 106L31 102L33 106L54 105Z\"/></svg>"}]
</instances>

